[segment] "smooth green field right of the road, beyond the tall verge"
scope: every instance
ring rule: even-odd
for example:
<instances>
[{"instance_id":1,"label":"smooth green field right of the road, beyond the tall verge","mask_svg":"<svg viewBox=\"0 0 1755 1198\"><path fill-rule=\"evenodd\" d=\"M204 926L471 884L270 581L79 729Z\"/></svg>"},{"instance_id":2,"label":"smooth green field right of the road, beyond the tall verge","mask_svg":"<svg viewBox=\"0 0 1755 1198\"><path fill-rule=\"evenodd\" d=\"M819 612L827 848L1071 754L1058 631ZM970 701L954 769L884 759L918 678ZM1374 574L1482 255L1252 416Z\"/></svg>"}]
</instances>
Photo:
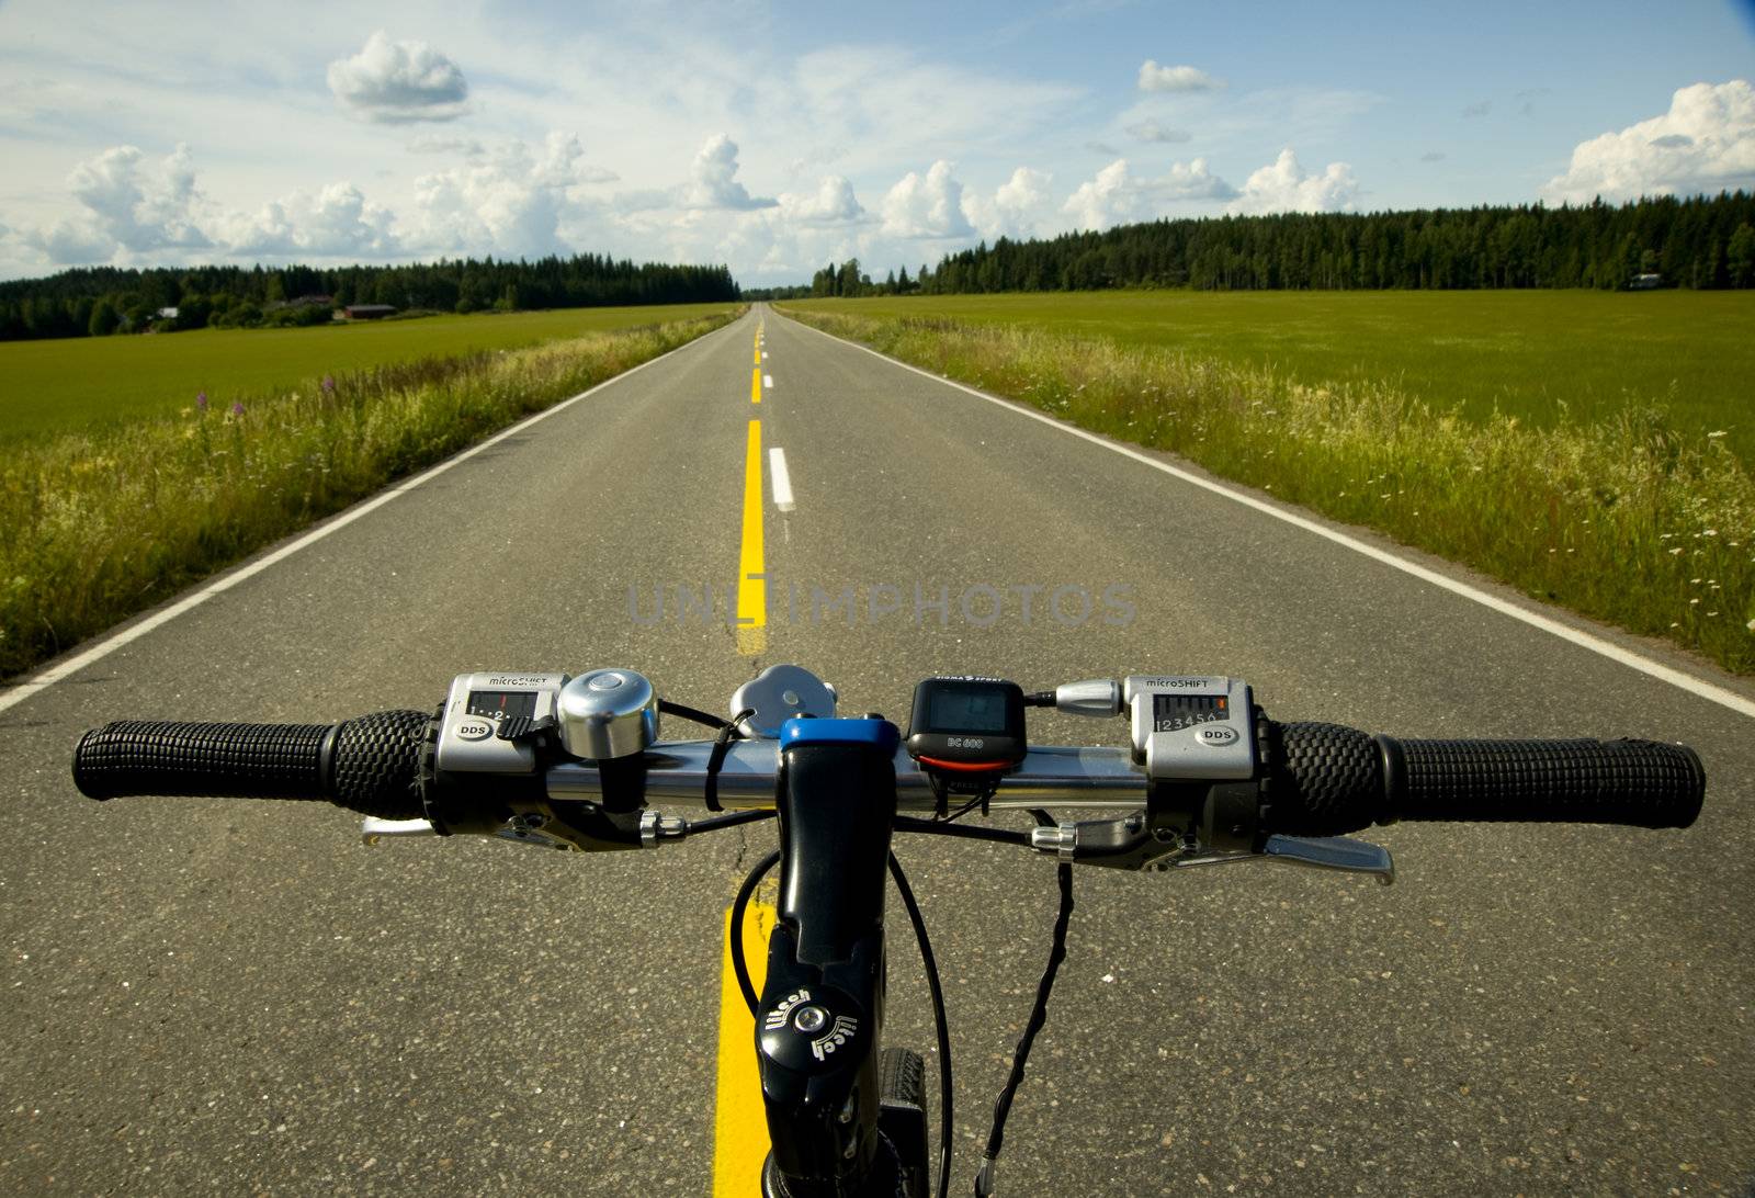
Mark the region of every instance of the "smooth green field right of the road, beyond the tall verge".
<instances>
[{"instance_id":1,"label":"smooth green field right of the road, beyond the tall verge","mask_svg":"<svg viewBox=\"0 0 1755 1198\"><path fill-rule=\"evenodd\" d=\"M1155 346L1302 383L1390 383L1436 411L1537 427L1660 402L1755 462L1755 292L1081 292L797 300Z\"/></svg>"}]
</instances>

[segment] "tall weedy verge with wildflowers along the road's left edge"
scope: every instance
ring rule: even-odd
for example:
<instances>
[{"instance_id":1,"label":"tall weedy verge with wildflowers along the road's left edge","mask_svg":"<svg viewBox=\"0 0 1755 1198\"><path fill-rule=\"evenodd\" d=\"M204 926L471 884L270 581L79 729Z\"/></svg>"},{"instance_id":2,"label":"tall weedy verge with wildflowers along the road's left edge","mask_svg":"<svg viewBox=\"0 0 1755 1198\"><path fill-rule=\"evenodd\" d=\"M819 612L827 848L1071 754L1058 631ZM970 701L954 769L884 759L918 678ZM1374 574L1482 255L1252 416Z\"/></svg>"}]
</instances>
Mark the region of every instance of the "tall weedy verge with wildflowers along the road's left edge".
<instances>
[{"instance_id":1,"label":"tall weedy verge with wildflowers along the road's left edge","mask_svg":"<svg viewBox=\"0 0 1755 1198\"><path fill-rule=\"evenodd\" d=\"M9 446L0 675L735 314L335 371L276 395L216 385L168 416Z\"/></svg>"}]
</instances>

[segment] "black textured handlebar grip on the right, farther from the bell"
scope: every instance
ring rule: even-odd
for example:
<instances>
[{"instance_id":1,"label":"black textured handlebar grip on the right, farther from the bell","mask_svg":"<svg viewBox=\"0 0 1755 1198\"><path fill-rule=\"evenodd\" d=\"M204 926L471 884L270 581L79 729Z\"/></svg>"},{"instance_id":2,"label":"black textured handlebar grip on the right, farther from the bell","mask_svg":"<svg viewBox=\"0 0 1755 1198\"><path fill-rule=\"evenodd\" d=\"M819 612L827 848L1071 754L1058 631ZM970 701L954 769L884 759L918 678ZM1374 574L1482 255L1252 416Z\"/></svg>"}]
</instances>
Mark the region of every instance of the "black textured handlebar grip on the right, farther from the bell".
<instances>
[{"instance_id":1,"label":"black textured handlebar grip on the right, farther from the bell","mask_svg":"<svg viewBox=\"0 0 1755 1198\"><path fill-rule=\"evenodd\" d=\"M1687 745L1594 740L1397 741L1264 720L1264 829L1337 836L1408 820L1688 827L1706 771Z\"/></svg>"}]
</instances>

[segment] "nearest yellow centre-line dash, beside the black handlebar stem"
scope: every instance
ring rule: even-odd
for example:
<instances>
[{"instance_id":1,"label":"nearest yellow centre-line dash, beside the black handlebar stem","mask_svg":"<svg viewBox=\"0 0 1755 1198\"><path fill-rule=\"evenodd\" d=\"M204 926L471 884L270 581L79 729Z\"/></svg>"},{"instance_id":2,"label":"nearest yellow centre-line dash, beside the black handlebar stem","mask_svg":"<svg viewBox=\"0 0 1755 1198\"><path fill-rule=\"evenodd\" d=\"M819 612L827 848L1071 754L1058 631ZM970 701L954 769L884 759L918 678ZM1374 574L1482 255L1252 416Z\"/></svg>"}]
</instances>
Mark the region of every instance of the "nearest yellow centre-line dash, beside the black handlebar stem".
<instances>
[{"instance_id":1,"label":"nearest yellow centre-line dash, beside the black handlebar stem","mask_svg":"<svg viewBox=\"0 0 1755 1198\"><path fill-rule=\"evenodd\" d=\"M756 994L767 975L767 942L774 919L770 903L751 903L744 912L744 963ZM767 1151L767 1114L756 1072L756 1024L732 971L732 908L727 906L725 961L720 970L720 1077L713 1094L714 1198L760 1194Z\"/></svg>"}]
</instances>

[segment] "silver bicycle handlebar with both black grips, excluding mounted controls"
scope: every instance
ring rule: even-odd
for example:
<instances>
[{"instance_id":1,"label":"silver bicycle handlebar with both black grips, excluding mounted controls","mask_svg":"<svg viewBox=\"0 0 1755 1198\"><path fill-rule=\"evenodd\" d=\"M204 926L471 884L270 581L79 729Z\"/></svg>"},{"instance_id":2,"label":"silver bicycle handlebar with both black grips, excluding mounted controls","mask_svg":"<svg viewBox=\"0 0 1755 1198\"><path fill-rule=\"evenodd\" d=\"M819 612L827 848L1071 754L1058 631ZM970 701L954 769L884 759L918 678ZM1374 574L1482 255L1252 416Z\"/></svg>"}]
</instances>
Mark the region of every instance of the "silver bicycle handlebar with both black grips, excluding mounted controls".
<instances>
[{"instance_id":1,"label":"silver bicycle handlebar with both black grips, excluding mounted controls","mask_svg":"<svg viewBox=\"0 0 1755 1198\"><path fill-rule=\"evenodd\" d=\"M432 717L376 711L342 724L181 724L123 720L86 733L74 782L93 799L233 796L326 799L383 819L414 819ZM1688 827L1706 773L1685 745L1618 740L1393 740L1339 724L1262 720L1267 833L1337 836L1397 820L1492 820ZM711 741L646 752L644 794L698 803ZM770 806L774 741L737 741L720 764L727 806ZM904 810L928 810L932 787L897 754ZM548 771L553 797L600 794L595 762ZM1148 778L1123 748L1035 747L997 780L995 806L1139 806Z\"/></svg>"}]
</instances>

